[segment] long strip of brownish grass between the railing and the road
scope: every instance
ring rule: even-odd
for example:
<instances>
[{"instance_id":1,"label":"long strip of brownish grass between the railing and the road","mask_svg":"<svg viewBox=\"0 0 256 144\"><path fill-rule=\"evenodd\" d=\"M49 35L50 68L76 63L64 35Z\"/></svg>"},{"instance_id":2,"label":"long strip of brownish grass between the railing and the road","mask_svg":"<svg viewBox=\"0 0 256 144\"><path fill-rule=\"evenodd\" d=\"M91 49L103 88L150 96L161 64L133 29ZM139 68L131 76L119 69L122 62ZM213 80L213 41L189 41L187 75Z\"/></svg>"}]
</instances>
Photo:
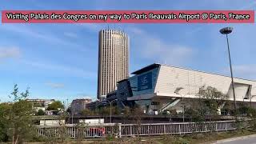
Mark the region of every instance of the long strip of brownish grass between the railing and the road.
<instances>
[{"instance_id":1,"label":"long strip of brownish grass between the railing and the road","mask_svg":"<svg viewBox=\"0 0 256 144\"><path fill-rule=\"evenodd\" d=\"M195 134L175 134L175 135L158 135L158 136L143 136L143 137L123 137L114 138L108 136L106 138L94 138L94 139L66 139L64 142L60 142L59 139L48 139L47 141L41 141L42 143L142 143L142 144L195 144L195 143L210 143L217 140L226 138L235 138L240 136L246 136L250 134L256 134L256 131L250 129L243 130L230 130L222 132L210 132L210 133L195 133ZM36 144L37 142L34 142Z\"/></svg>"}]
</instances>

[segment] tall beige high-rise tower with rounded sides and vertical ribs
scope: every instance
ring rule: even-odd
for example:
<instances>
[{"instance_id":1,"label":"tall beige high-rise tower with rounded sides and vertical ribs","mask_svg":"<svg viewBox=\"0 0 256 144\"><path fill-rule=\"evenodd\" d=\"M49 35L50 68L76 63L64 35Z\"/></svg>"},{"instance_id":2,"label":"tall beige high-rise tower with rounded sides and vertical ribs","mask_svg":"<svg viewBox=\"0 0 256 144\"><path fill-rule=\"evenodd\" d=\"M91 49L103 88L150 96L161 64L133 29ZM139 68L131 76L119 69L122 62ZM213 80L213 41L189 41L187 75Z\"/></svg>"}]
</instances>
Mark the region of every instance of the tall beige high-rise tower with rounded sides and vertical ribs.
<instances>
[{"instance_id":1,"label":"tall beige high-rise tower with rounded sides and vertical ribs","mask_svg":"<svg viewBox=\"0 0 256 144\"><path fill-rule=\"evenodd\" d=\"M129 38L120 30L100 30L98 37L98 98L129 77Z\"/></svg>"}]
</instances>

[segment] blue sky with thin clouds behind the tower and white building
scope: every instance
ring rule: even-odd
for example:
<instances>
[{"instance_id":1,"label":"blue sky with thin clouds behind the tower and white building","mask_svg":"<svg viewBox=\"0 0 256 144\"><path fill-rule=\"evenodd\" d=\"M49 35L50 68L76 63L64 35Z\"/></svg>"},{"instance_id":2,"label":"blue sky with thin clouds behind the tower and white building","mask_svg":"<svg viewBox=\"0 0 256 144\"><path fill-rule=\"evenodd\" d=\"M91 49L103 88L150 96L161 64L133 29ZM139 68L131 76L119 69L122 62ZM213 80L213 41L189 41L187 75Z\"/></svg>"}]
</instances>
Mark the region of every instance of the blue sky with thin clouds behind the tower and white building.
<instances>
[{"instance_id":1,"label":"blue sky with thin clouds behind the tower and white building","mask_svg":"<svg viewBox=\"0 0 256 144\"><path fill-rule=\"evenodd\" d=\"M255 10L254 0L1 0L0 10ZM0 16L1 18L1 16ZM130 37L130 73L154 62L256 80L255 24L2 24L0 102L18 84L29 98L96 99L98 31L124 30Z\"/></svg>"}]
</instances>

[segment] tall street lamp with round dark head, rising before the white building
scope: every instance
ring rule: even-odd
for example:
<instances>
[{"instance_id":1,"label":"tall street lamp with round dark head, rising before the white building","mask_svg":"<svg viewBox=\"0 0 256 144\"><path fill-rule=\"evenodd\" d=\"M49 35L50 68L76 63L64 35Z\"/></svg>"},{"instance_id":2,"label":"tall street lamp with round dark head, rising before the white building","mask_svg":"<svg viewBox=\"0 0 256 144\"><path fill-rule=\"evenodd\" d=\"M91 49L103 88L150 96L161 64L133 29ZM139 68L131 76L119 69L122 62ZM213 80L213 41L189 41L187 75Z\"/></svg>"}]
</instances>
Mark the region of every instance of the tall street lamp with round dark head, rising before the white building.
<instances>
[{"instance_id":1,"label":"tall street lamp with round dark head, rising before the white building","mask_svg":"<svg viewBox=\"0 0 256 144\"><path fill-rule=\"evenodd\" d=\"M231 82L232 82L232 89L233 89L233 96L234 96L234 110L237 110L237 103L235 101L235 92L234 92L234 78L233 78L233 71L232 71L232 63L231 63L231 58L230 58L230 44L229 44L229 38L227 34L230 34L232 32L233 28L232 27L225 27L219 30L221 34L226 34L226 43L227 43L227 50L229 52L229 59L230 59L230 73L231 73Z\"/></svg>"}]
</instances>

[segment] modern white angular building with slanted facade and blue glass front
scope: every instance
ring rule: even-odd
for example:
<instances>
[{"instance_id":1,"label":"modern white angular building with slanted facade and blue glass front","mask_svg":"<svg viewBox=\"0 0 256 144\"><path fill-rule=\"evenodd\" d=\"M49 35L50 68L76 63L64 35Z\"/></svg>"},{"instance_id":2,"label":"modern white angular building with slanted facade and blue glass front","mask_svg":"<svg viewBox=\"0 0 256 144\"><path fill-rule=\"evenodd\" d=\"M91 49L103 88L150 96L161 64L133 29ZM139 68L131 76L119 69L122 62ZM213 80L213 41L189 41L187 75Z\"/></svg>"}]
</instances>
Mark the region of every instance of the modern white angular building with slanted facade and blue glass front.
<instances>
[{"instance_id":1,"label":"modern white angular building with slanted facade and blue glass front","mask_svg":"<svg viewBox=\"0 0 256 144\"><path fill-rule=\"evenodd\" d=\"M182 109L182 98L187 103L195 100L202 86L212 86L227 94L228 100L234 100L228 76L162 64L152 64L132 74L129 81L133 96L127 99L137 102L147 113L172 106ZM256 81L234 78L234 90L237 102L256 102Z\"/></svg>"}]
</instances>

